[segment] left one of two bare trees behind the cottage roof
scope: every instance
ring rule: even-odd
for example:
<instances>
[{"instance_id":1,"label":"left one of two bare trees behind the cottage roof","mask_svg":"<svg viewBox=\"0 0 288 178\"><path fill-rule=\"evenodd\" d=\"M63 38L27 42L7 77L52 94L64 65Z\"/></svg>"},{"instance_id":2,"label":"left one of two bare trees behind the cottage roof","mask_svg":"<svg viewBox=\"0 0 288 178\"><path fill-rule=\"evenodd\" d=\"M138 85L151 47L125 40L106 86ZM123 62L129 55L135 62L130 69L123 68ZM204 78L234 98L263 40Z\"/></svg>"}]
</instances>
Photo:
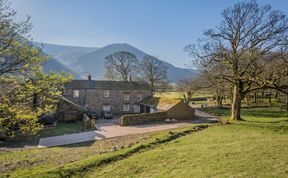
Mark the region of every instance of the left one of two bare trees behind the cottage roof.
<instances>
[{"instance_id":1,"label":"left one of two bare trees behind the cottage roof","mask_svg":"<svg viewBox=\"0 0 288 178\"><path fill-rule=\"evenodd\" d=\"M136 75L138 60L130 52L119 51L106 58L106 78L110 80L128 81L129 77Z\"/></svg>"}]
</instances>

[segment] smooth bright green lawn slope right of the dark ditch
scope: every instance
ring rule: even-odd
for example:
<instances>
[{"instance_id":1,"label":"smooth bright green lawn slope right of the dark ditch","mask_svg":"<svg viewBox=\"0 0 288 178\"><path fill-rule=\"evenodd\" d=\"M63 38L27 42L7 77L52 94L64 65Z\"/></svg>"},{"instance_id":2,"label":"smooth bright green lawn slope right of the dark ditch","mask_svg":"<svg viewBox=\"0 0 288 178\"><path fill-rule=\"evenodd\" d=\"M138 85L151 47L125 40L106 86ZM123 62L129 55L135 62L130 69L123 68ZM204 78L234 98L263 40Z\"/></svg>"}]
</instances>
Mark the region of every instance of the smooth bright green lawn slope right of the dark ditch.
<instances>
[{"instance_id":1,"label":"smooth bright green lawn slope right of the dark ditch","mask_svg":"<svg viewBox=\"0 0 288 178\"><path fill-rule=\"evenodd\" d=\"M229 115L227 110L213 112ZM243 109L243 117L250 122L208 128L87 176L288 177L287 113L253 108Z\"/></svg>"}]
</instances>

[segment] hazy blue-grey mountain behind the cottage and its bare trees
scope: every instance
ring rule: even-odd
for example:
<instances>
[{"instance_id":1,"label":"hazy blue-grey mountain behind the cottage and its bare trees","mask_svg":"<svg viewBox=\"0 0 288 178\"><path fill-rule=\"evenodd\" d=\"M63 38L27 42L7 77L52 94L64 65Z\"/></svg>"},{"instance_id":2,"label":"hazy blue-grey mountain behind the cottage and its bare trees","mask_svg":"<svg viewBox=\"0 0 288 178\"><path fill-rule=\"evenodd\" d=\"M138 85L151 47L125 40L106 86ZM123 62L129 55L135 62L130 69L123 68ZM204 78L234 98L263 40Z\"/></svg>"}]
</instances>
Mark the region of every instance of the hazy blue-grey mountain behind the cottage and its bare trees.
<instances>
[{"instance_id":1,"label":"hazy blue-grey mountain behind the cottage and its bare trees","mask_svg":"<svg viewBox=\"0 0 288 178\"><path fill-rule=\"evenodd\" d=\"M105 57L118 51L128 51L133 53L139 60L142 60L147 53L127 44L116 43L104 46L102 48L86 48L76 46L62 46L54 44L43 44L43 51L51 55L60 65L77 74L77 76L86 77L91 73L94 79L104 79ZM159 59L160 60L160 59ZM161 60L168 68L168 79L170 82L177 82L180 79L191 77L197 74L195 70L175 67L172 64ZM53 62L54 65L57 65ZM53 70L53 65L48 68ZM63 66L62 66L63 67ZM59 68L59 67L58 67Z\"/></svg>"}]
</instances>

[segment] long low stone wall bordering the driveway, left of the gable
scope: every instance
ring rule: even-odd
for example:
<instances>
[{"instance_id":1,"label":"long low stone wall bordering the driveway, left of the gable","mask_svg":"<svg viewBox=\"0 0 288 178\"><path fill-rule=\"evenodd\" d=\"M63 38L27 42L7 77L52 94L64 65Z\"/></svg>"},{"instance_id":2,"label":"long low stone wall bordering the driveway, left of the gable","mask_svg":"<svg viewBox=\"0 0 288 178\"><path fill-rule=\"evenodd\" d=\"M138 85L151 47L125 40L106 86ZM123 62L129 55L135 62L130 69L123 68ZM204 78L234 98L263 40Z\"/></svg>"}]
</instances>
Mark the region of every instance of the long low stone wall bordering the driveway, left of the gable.
<instances>
[{"instance_id":1,"label":"long low stone wall bordering the driveway, left of the gable","mask_svg":"<svg viewBox=\"0 0 288 178\"><path fill-rule=\"evenodd\" d=\"M140 125L156 121L164 121L166 118L165 112L123 115L120 118L119 124L121 126Z\"/></svg>"}]
</instances>

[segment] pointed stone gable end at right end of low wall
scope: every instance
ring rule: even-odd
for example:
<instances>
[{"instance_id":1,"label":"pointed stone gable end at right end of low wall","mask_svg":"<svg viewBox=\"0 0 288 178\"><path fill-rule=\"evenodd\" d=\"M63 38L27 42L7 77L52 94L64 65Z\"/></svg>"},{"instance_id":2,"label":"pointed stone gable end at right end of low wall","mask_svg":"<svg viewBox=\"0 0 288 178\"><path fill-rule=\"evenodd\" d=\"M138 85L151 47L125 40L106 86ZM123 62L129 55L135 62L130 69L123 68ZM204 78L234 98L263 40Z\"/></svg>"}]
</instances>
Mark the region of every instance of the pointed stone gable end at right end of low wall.
<instances>
[{"instance_id":1,"label":"pointed stone gable end at right end of low wall","mask_svg":"<svg viewBox=\"0 0 288 178\"><path fill-rule=\"evenodd\" d=\"M195 109L191 108L184 102L178 103L177 105L166 111L166 113L168 119L190 120L195 118Z\"/></svg>"}]
</instances>

